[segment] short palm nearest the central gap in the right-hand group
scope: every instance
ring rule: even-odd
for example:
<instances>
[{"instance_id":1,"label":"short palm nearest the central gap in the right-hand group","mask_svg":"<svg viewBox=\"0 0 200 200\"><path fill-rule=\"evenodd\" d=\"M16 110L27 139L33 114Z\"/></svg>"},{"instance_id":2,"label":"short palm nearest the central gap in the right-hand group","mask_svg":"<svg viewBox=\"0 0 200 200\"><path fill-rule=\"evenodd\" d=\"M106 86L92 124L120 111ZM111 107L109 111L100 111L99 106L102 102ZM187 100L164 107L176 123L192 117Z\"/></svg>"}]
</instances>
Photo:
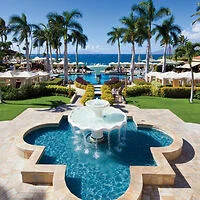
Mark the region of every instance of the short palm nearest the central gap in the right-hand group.
<instances>
[{"instance_id":1,"label":"short palm nearest the central gap in the right-hand group","mask_svg":"<svg viewBox=\"0 0 200 200\"><path fill-rule=\"evenodd\" d=\"M120 39L123 37L124 30L122 28L115 28L112 27L112 31L107 33L107 36L109 36L109 39L107 43L111 43L113 45L115 42L117 42L118 46L118 72L120 70L120 55L121 55L121 47L120 47Z\"/></svg>"}]
</instances>

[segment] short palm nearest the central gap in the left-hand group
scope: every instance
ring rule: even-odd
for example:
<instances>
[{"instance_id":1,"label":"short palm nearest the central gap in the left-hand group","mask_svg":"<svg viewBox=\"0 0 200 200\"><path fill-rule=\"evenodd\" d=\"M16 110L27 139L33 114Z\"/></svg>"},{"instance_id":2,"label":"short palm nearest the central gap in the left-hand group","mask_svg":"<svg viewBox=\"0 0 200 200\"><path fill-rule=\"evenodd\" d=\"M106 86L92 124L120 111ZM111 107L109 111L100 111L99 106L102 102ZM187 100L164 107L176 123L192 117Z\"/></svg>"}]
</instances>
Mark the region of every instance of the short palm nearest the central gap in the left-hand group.
<instances>
[{"instance_id":1,"label":"short palm nearest the central gap in the left-hand group","mask_svg":"<svg viewBox=\"0 0 200 200\"><path fill-rule=\"evenodd\" d=\"M71 40L72 44L75 45L76 48L76 67L78 68L78 46L80 45L82 48L85 48L88 38L85 34L79 31L73 31L71 34Z\"/></svg>"}]
</instances>

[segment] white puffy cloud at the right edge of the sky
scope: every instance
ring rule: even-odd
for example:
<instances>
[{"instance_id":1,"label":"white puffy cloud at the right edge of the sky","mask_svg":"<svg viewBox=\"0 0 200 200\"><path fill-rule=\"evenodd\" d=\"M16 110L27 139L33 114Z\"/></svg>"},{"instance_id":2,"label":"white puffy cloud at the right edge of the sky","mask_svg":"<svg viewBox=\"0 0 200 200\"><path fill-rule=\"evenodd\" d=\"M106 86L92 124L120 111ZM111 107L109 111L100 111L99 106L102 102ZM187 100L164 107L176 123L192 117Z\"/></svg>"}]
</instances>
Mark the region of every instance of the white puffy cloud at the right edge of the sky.
<instances>
[{"instance_id":1,"label":"white puffy cloud at the right edge of the sky","mask_svg":"<svg viewBox=\"0 0 200 200\"><path fill-rule=\"evenodd\" d=\"M200 23L191 26L191 30L183 30L182 34L192 42L200 42Z\"/></svg>"}]
</instances>

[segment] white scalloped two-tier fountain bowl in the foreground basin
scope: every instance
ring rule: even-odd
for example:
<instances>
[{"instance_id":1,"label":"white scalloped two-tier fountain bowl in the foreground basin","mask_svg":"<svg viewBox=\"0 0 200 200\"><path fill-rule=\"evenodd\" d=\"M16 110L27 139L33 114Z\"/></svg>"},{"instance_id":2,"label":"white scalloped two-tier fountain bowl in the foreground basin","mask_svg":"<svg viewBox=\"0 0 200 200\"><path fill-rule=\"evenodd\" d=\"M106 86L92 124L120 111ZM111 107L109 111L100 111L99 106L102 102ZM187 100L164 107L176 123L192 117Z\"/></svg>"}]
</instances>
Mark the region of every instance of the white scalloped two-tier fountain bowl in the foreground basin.
<instances>
[{"instance_id":1,"label":"white scalloped two-tier fountain bowl in the foreground basin","mask_svg":"<svg viewBox=\"0 0 200 200\"><path fill-rule=\"evenodd\" d=\"M86 106L71 111L69 123L82 133L89 131L90 141L99 143L104 141L104 132L108 135L112 130L118 130L126 124L127 116L121 110L111 107L109 102L93 99L86 102Z\"/></svg>"}]
</instances>

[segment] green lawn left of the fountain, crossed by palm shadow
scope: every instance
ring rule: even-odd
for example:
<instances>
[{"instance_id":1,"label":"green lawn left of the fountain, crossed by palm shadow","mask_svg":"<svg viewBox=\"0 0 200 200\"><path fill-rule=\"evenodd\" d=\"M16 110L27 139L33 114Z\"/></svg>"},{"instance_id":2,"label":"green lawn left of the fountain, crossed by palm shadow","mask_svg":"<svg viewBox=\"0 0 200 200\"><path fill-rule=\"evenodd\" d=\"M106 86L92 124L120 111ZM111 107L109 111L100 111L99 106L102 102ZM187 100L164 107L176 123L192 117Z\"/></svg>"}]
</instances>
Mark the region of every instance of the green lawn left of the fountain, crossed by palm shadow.
<instances>
[{"instance_id":1,"label":"green lawn left of the fountain, crossed by palm shadow","mask_svg":"<svg viewBox=\"0 0 200 200\"><path fill-rule=\"evenodd\" d=\"M5 103L0 104L0 121L14 119L27 108L55 108L61 104L68 104L69 102L70 99L63 96L5 101Z\"/></svg>"}]
</instances>

